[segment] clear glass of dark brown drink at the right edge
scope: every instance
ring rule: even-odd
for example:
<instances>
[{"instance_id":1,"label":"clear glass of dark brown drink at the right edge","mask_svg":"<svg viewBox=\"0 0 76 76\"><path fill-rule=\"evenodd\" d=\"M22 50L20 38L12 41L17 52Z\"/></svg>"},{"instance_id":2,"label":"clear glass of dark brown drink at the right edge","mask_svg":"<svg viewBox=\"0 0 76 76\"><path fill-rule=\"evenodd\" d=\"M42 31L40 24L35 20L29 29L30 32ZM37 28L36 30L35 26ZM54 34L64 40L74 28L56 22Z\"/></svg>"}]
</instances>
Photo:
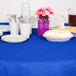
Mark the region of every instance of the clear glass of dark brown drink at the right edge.
<instances>
[{"instance_id":1,"label":"clear glass of dark brown drink at the right edge","mask_svg":"<svg viewBox=\"0 0 76 76\"><path fill-rule=\"evenodd\" d=\"M69 26L76 26L76 9L69 8Z\"/></svg>"}]
</instances>

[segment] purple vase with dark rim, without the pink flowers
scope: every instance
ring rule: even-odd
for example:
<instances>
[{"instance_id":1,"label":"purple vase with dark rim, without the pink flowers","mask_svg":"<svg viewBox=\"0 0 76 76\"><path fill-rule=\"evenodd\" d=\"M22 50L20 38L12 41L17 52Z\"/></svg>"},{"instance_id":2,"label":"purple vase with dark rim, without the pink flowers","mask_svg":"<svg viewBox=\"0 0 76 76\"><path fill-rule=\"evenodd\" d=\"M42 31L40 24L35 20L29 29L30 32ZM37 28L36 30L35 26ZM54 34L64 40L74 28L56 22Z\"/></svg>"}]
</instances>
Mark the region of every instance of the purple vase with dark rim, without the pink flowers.
<instances>
[{"instance_id":1,"label":"purple vase with dark rim, without the pink flowers","mask_svg":"<svg viewBox=\"0 0 76 76\"><path fill-rule=\"evenodd\" d=\"M44 32L49 30L49 17L48 15L39 15L38 18L38 35L43 35Z\"/></svg>"}]
</instances>

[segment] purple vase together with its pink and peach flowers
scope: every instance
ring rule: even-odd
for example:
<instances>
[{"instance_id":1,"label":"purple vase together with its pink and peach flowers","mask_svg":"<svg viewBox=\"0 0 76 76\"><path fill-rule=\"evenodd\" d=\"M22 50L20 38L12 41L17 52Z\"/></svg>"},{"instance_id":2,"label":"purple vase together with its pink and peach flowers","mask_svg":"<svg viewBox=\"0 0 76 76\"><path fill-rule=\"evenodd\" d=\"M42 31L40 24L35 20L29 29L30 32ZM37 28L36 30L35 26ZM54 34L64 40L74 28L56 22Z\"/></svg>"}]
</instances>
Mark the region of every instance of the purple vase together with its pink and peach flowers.
<instances>
[{"instance_id":1,"label":"purple vase together with its pink and peach flowers","mask_svg":"<svg viewBox=\"0 0 76 76\"><path fill-rule=\"evenodd\" d=\"M49 16L54 15L53 9L50 7L40 8L35 14L38 17L38 35L43 35L49 30Z\"/></svg>"}]
</instances>

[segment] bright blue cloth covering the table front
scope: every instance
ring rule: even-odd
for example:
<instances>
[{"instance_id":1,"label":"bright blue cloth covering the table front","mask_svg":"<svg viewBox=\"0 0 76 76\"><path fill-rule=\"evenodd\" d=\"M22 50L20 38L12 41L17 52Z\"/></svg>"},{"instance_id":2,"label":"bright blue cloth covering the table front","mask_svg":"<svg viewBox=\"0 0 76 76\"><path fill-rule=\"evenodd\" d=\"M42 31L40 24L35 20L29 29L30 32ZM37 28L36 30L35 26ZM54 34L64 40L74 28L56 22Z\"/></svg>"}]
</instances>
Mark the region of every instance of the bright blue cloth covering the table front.
<instances>
[{"instance_id":1,"label":"bright blue cloth covering the table front","mask_svg":"<svg viewBox=\"0 0 76 76\"><path fill-rule=\"evenodd\" d=\"M33 29L23 43L0 40L0 76L76 76L76 38L49 42Z\"/></svg>"}]
</instances>

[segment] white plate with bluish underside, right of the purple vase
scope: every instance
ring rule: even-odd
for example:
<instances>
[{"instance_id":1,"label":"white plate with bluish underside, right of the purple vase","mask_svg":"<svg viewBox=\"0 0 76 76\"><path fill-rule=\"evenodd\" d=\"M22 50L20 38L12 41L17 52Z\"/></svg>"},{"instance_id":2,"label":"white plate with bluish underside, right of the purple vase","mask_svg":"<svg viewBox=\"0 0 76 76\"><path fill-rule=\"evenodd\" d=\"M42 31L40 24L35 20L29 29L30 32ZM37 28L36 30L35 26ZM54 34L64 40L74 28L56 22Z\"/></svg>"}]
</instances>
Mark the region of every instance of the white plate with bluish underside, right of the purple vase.
<instances>
[{"instance_id":1,"label":"white plate with bluish underside, right of the purple vase","mask_svg":"<svg viewBox=\"0 0 76 76\"><path fill-rule=\"evenodd\" d=\"M65 42L69 41L72 37L73 34L69 31L64 31L64 30L49 30L43 34L43 36L48 40L48 41L53 41L53 42Z\"/></svg>"}]
</instances>

